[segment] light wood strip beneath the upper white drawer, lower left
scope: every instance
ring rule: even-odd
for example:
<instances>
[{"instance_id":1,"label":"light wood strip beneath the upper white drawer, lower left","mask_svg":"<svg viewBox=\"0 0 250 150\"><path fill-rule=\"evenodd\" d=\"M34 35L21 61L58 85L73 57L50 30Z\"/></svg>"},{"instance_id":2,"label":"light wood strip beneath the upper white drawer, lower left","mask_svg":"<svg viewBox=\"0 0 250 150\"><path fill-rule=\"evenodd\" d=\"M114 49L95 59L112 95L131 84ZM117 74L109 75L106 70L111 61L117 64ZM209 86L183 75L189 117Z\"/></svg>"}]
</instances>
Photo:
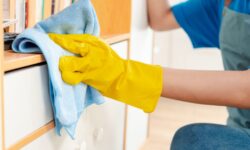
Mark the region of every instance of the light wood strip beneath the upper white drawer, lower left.
<instances>
[{"instance_id":1,"label":"light wood strip beneath the upper white drawer, lower left","mask_svg":"<svg viewBox=\"0 0 250 150\"><path fill-rule=\"evenodd\" d=\"M18 141L16 144L9 147L8 150L21 149L22 147L24 147L25 145L27 145L27 144L31 143L32 141L36 140L37 138L39 138L43 134L47 133L48 131L50 131L54 127L55 127L54 121L51 121L48 124L46 124L45 126L37 129L36 131L31 133L30 135L24 137L22 140Z\"/></svg>"}]
</instances>

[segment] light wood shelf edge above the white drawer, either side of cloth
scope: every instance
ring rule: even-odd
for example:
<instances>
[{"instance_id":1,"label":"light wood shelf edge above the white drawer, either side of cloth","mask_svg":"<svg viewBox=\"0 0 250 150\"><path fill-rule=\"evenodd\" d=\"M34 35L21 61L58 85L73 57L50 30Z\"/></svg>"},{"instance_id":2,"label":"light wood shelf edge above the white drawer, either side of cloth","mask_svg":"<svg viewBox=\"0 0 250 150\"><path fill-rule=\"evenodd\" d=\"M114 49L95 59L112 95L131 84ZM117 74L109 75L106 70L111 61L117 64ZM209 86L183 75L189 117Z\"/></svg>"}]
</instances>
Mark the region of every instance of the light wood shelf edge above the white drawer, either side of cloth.
<instances>
[{"instance_id":1,"label":"light wood shelf edge above the white drawer, either side of cloth","mask_svg":"<svg viewBox=\"0 0 250 150\"><path fill-rule=\"evenodd\" d=\"M129 34L109 35L102 38L108 43L113 44L129 39ZM4 71L11 71L39 63L45 62L42 54L20 54L11 50L4 52Z\"/></svg>"}]
</instances>

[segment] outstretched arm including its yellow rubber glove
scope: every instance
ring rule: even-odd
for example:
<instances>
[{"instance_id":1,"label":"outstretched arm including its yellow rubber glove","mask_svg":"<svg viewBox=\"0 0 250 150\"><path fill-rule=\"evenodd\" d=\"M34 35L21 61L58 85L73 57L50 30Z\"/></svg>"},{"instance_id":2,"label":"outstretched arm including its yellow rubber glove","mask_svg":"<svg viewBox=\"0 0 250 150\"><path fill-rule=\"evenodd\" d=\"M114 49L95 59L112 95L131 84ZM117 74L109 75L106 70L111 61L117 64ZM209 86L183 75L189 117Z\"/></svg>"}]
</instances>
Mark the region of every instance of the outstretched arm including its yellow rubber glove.
<instances>
[{"instance_id":1,"label":"outstretched arm including its yellow rubber glove","mask_svg":"<svg viewBox=\"0 0 250 150\"><path fill-rule=\"evenodd\" d=\"M250 108L250 71L162 68L124 60L91 35L52 34L50 37L79 55L60 59L66 83L84 82L105 96L145 112L154 110L160 95L193 103Z\"/></svg>"}]
</instances>

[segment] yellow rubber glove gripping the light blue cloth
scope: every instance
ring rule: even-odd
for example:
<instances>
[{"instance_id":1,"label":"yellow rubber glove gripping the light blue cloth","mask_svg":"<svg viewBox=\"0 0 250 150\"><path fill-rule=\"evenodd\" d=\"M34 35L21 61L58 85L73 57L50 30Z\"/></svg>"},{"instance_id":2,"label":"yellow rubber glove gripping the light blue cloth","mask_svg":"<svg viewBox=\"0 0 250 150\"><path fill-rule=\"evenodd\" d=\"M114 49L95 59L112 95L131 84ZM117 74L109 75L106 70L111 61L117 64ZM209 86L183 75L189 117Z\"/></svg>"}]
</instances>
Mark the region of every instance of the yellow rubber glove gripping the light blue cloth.
<instances>
[{"instance_id":1,"label":"yellow rubber glove gripping the light blue cloth","mask_svg":"<svg viewBox=\"0 0 250 150\"><path fill-rule=\"evenodd\" d=\"M49 34L65 50L78 56L60 58L59 68L66 83L86 83L104 96L152 112L162 92L160 66L119 57L99 38L88 34Z\"/></svg>"}]
</instances>

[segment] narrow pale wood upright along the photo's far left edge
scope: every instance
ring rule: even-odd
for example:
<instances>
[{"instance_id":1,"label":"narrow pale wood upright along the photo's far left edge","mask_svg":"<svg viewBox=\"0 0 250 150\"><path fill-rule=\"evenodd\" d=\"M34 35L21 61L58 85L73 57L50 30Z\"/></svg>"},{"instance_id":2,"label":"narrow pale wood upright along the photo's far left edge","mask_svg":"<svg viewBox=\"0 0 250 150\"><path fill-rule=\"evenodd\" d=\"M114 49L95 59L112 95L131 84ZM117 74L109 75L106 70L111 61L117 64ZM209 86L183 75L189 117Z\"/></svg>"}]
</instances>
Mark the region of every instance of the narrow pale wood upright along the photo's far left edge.
<instances>
[{"instance_id":1,"label":"narrow pale wood upright along the photo's far left edge","mask_svg":"<svg viewBox=\"0 0 250 150\"><path fill-rule=\"evenodd\" d=\"M3 11L3 1L0 0L0 11ZM2 29L2 20L3 20L3 13L0 13L0 29ZM4 141L4 100L3 100L3 30L0 30L0 148L5 149L5 141Z\"/></svg>"}]
</instances>

